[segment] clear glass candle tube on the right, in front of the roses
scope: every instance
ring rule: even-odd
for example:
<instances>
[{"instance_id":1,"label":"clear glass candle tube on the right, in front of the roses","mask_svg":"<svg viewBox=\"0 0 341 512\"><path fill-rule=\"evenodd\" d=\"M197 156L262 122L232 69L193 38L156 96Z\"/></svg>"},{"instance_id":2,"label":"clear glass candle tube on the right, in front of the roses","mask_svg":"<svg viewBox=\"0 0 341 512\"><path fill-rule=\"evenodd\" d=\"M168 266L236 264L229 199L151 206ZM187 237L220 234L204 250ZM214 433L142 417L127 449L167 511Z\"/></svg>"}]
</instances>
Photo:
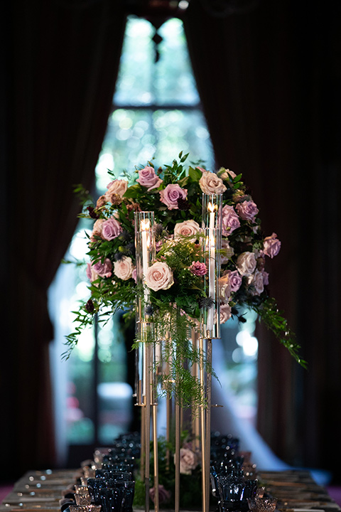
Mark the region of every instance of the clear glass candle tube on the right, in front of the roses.
<instances>
[{"instance_id":1,"label":"clear glass candle tube on the right, in front of the roses","mask_svg":"<svg viewBox=\"0 0 341 512\"><path fill-rule=\"evenodd\" d=\"M202 309L204 338L220 338L220 250L222 247L222 194L202 194L202 233L207 266Z\"/></svg>"}]
</instances>

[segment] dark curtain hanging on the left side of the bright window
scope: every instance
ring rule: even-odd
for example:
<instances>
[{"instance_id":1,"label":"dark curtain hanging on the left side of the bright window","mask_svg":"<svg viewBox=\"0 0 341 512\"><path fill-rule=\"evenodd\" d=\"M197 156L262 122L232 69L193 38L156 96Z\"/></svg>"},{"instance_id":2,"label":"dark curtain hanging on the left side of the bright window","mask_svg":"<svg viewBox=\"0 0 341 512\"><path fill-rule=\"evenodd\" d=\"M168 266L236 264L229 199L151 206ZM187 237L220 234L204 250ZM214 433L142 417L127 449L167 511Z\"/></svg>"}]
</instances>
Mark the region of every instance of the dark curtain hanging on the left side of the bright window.
<instances>
[{"instance_id":1,"label":"dark curtain hanging on the left side of the bright window","mask_svg":"<svg viewBox=\"0 0 341 512\"><path fill-rule=\"evenodd\" d=\"M6 15L0 439L16 478L55 460L47 291L77 223L73 185L94 178L125 16L110 0L17 1Z\"/></svg>"}]
</instances>

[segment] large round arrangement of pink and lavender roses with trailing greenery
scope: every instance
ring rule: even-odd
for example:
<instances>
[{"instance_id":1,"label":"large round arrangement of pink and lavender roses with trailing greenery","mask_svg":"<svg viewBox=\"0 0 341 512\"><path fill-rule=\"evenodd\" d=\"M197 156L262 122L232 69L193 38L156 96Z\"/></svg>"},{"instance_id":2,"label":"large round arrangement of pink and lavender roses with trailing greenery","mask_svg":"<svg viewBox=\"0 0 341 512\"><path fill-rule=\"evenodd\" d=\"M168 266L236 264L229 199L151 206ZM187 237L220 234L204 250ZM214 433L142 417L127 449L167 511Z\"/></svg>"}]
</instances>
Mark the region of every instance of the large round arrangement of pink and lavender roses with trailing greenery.
<instances>
[{"instance_id":1,"label":"large round arrangement of pink and lavender roses with trailing greenery","mask_svg":"<svg viewBox=\"0 0 341 512\"><path fill-rule=\"evenodd\" d=\"M68 357L95 314L99 321L106 321L117 309L124 309L127 318L134 316L136 293L141 292L136 284L134 213L153 211L156 256L144 276L146 308L158 326L158 338L171 332L175 341L163 354L173 364L168 374L163 373L163 390L175 393L182 405L200 401L202 394L186 366L176 366L176 361L179 354L180 360L189 365L202 357L188 343L188 329L199 329L202 308L209 308L211 301L203 286L207 276L207 255L201 243L203 193L222 195L220 323L231 316L244 321L240 307L253 309L296 361L305 366L293 332L269 296L266 258L278 254L280 240L275 233L264 236L259 209L242 175L236 176L229 169L215 173L195 165L185 169L187 158L180 153L179 161L159 169L148 162L136 169L135 181L128 175L113 179L96 203L85 196L81 216L94 219L87 264L91 297L77 311L76 329L67 336L65 352ZM81 186L77 190L84 195ZM176 358L172 351L176 351Z\"/></svg>"}]
</instances>

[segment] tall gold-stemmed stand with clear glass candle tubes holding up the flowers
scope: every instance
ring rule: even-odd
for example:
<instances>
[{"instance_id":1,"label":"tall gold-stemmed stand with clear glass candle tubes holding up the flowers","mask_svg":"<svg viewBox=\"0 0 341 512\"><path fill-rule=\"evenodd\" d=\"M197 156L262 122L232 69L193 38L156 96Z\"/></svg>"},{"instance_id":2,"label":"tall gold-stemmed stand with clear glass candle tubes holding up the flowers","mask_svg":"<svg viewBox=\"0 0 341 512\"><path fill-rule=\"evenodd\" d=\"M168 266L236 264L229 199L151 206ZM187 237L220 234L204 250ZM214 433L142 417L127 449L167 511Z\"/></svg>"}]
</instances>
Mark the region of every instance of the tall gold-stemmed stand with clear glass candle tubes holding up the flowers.
<instances>
[{"instance_id":1,"label":"tall gold-stemmed stand with clear glass candle tubes holding up the flowers","mask_svg":"<svg viewBox=\"0 0 341 512\"><path fill-rule=\"evenodd\" d=\"M139 348L136 351L136 405L141 407L141 478L145 482L145 509L149 511L151 441L153 449L153 486L155 491L154 509L159 511L158 500L158 438L157 438L157 386L158 373L167 372L169 368L162 365L162 341L158 339L158 325L153 321L153 311L148 302L146 274L153 265L156 256L154 237L154 213L152 211L135 213L136 245L136 338ZM200 244L202 262L207 273L202 276L202 289L205 292L205 304L202 306L201 318L188 334L188 343L200 354L197 363L188 371L200 384L202 397L199 410L191 411L193 439L201 450L202 457L202 512L208 512L210 506L210 434L211 434L211 368L212 339L220 337L220 249L222 224L222 195L202 194L202 229ZM178 311L181 314L181 311ZM168 333L165 343L173 343L172 334ZM177 357L176 346L173 357ZM185 365L186 361L180 361ZM176 390L176 375L175 390ZM172 415L175 423L175 512L180 510L180 438L183 410L179 400L168 395L166 406L167 437L171 430ZM174 412L174 414L173 414ZM168 439L169 440L169 439ZM168 457L169 462L169 457Z\"/></svg>"}]
</instances>

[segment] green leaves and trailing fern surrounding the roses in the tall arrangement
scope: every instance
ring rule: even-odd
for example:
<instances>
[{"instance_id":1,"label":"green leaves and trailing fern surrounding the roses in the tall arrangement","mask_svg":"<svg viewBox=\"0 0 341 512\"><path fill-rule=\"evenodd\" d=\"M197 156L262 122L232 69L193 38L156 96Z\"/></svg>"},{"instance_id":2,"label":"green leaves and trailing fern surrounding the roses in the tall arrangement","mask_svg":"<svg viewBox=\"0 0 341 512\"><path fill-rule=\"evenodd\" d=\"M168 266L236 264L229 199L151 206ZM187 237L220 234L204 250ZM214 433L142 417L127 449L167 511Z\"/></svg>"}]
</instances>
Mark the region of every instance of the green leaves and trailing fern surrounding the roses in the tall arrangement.
<instances>
[{"instance_id":1,"label":"green leaves and trailing fern surrounding the roses in the tall arrangement","mask_svg":"<svg viewBox=\"0 0 341 512\"><path fill-rule=\"evenodd\" d=\"M157 339L163 340L163 363L168 363L169 366L168 373L163 372L162 375L163 393L175 395L175 400L183 407L205 405L200 382L190 373L193 364L205 366L207 372L212 372L212 368L207 366L205 355L193 348L189 341L192 328L202 336L200 332L202 304L206 304L207 307L207 300L210 301L207 297L207 274L197 275L191 268L193 262L207 264L207 253L203 249L203 235L200 231L196 231L190 236L176 235L175 238L173 236L178 223L183 223L185 220L195 221L197 226L202 223L202 168L189 166L185 169L184 164L187 158L188 154L180 153L178 161L173 160L171 165L156 171L154 169L152 171L156 180L154 188L136 182L127 186L123 196L115 196L113 200L115 203L110 203L109 197L102 196L104 204L98 208L90 203L89 194L82 186L75 188L84 204L82 216L97 219L99 223L114 219L119 223L120 232L116 237L107 240L101 231L97 230L89 239L87 255L90 257L92 270L94 265L101 265L104 262L109 262L111 270L106 274L109 277L101 277L99 274L94 274L92 277L91 298L86 303L80 304L80 309L75 312L75 332L67 336L67 351L63 354L65 358L70 356L82 329L91 326L94 316L97 316L98 321L105 322L117 309L124 309L126 316L131 316L133 314L131 311L136 304L136 295L139 294L142 301L144 296L148 297L148 304L144 305L151 311L157 330ZM148 166L153 168L153 163L148 162ZM222 257L225 257L225 260L220 277L227 284L229 272L237 272L241 285L239 289L231 291L228 297L223 295L222 303L225 309L232 308L232 315L238 315L235 306L249 306L254 309L296 361L305 367L305 361L298 355L300 347L288 328L286 319L278 311L276 302L269 297L266 284L263 287L254 280L256 277L264 280L264 283L267 280L267 274L263 271L266 260L265 239L256 214L251 217L238 215L239 209L252 201L242 182L242 175L234 176L232 172L222 168L217 172L217 176L218 181L224 186L222 205L227 206L227 210L232 209L239 223L238 227L233 229L225 225L226 232L223 232L223 240L227 247L222 250ZM185 198L178 200L177 207L168 208L167 204L161 201L161 192L171 184L178 184ZM243 206L244 202L246 203ZM135 211L154 212L155 238L159 245L155 262L166 264L173 276L173 284L166 289L161 287L155 291L147 288L146 285L143 289L141 285L136 286L132 274L129 274L126 279L121 279L115 274L116 262L120 262L122 258L128 262L131 269L136 265ZM256 266L249 273L242 272L239 267L239 257L248 252L254 256L254 262L256 262ZM141 341L136 340L134 347L138 346L139 342Z\"/></svg>"}]
</instances>

